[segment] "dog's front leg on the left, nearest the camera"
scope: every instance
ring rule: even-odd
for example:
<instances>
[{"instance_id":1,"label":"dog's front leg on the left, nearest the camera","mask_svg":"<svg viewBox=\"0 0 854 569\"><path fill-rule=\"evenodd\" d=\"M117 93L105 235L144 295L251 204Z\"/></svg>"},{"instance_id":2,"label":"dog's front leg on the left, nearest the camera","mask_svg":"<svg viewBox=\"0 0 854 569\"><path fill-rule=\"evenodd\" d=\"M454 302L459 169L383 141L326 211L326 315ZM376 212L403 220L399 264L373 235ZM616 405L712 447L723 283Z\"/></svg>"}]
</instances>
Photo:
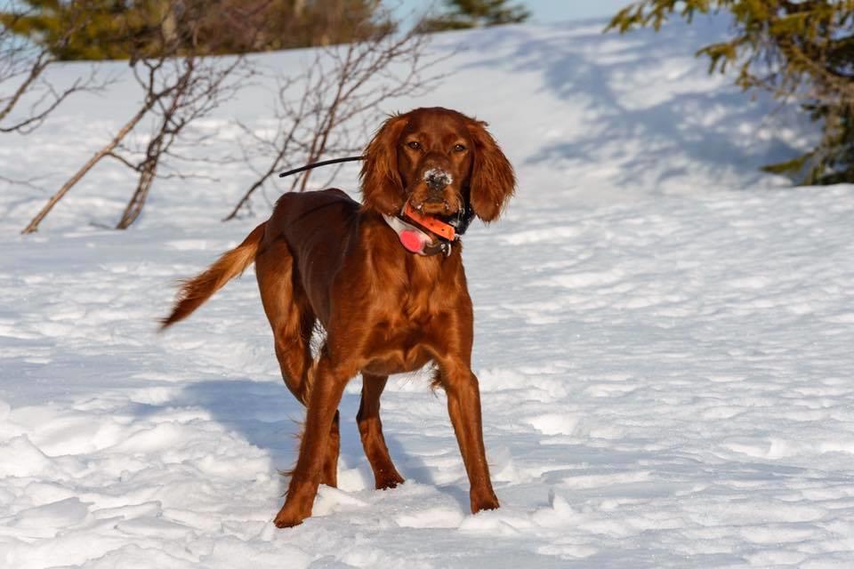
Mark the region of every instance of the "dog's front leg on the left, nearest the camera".
<instances>
[{"instance_id":1,"label":"dog's front leg on the left, nearest the camera","mask_svg":"<svg viewBox=\"0 0 854 569\"><path fill-rule=\"evenodd\" d=\"M321 350L314 375L305 418L305 430L300 444L300 455L287 487L285 505L278 511L274 523L278 527L292 527L311 515L311 506L318 493L318 484L329 445L329 430L335 411L341 403L344 386L355 372L334 365L326 350Z\"/></svg>"}]
</instances>

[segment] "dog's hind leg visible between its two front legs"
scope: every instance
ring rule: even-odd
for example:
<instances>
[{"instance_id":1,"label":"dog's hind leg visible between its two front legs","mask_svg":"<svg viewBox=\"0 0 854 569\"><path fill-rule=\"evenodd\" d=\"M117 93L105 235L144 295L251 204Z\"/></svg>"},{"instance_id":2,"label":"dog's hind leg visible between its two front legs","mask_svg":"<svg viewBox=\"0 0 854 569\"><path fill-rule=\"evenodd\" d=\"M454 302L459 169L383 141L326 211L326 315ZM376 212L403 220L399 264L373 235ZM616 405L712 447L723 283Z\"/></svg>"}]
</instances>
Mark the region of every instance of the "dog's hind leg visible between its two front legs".
<instances>
[{"instance_id":1,"label":"dog's hind leg visible between its two front legs","mask_svg":"<svg viewBox=\"0 0 854 569\"><path fill-rule=\"evenodd\" d=\"M403 484L403 477L394 468L383 437L383 423L380 421L380 396L383 395L387 375L372 375L362 372L362 401L356 421L359 423L359 436L365 448L367 461L374 470L374 479L378 490L394 488Z\"/></svg>"}]
</instances>

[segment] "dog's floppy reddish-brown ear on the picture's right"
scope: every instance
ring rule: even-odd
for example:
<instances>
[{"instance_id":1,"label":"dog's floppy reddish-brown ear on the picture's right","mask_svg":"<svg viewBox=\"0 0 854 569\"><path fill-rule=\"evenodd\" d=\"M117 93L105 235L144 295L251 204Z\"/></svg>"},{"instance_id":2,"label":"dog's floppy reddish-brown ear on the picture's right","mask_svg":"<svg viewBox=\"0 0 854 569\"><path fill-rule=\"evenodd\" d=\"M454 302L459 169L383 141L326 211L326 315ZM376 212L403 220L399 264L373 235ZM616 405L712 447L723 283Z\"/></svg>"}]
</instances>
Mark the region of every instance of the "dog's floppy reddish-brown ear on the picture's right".
<instances>
[{"instance_id":1,"label":"dog's floppy reddish-brown ear on the picture's right","mask_svg":"<svg viewBox=\"0 0 854 569\"><path fill-rule=\"evenodd\" d=\"M504 204L513 195L516 175L486 127L483 121L472 120L469 123L471 140L474 140L469 199L475 215L488 223L498 218Z\"/></svg>"}]
</instances>

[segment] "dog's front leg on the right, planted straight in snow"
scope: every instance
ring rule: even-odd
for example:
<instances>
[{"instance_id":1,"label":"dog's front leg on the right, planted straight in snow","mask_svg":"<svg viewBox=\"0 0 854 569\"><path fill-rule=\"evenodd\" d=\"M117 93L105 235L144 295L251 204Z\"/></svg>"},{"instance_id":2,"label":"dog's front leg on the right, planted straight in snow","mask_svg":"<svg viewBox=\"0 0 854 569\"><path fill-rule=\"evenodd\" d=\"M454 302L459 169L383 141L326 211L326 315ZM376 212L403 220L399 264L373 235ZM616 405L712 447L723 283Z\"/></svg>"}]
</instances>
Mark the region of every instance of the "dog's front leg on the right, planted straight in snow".
<instances>
[{"instance_id":1,"label":"dog's front leg on the right, planted straight in snow","mask_svg":"<svg viewBox=\"0 0 854 569\"><path fill-rule=\"evenodd\" d=\"M440 362L442 385L447 393L447 413L454 425L456 441L463 454L465 471L469 475L471 513L481 509L498 508L498 498L489 480L487 454L483 445L480 420L480 391L478 378L463 361Z\"/></svg>"}]
</instances>

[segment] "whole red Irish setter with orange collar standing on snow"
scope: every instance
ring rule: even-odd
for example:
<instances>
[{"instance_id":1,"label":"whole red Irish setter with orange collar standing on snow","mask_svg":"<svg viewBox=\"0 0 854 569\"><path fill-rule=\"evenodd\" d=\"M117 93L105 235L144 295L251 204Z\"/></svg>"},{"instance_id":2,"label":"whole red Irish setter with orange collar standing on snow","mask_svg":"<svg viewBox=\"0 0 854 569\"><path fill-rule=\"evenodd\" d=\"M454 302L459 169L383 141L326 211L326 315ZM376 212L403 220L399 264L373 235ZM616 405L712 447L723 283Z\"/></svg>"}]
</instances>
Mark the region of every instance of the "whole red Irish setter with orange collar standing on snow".
<instances>
[{"instance_id":1,"label":"whole red Irish setter with orange collar standing on snow","mask_svg":"<svg viewBox=\"0 0 854 569\"><path fill-rule=\"evenodd\" d=\"M383 439L380 396L391 373L433 365L471 484L471 512L498 508L471 372L472 309L459 234L492 221L516 186L485 123L446 108L391 116L367 146L362 204L340 189L281 196L270 219L181 287L164 327L188 317L255 263L276 357L308 408L278 527L310 517L318 484L334 486L338 404L362 375L359 433L376 488L403 482ZM326 341L312 357L316 323Z\"/></svg>"}]
</instances>

